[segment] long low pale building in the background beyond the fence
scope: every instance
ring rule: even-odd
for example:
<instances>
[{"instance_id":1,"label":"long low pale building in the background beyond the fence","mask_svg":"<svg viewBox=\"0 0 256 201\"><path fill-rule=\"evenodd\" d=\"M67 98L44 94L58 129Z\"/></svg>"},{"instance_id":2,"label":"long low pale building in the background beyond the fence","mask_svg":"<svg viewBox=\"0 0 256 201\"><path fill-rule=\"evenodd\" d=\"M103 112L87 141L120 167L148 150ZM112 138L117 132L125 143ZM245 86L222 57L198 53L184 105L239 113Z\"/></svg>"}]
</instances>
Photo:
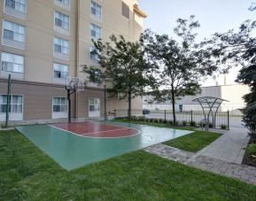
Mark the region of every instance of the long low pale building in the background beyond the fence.
<instances>
[{"instance_id":1,"label":"long low pale building in the background beyond the fence","mask_svg":"<svg viewBox=\"0 0 256 201\"><path fill-rule=\"evenodd\" d=\"M220 106L219 111L225 112L229 111L232 113L241 113L239 109L244 107L244 95L249 93L249 87L241 84L231 84L231 85L219 85L212 87L202 87L201 94L197 96L185 96L176 100L175 109L177 112L183 111L201 111L201 106L197 102L192 102L192 100L198 97L219 97L227 100L228 102L223 102ZM144 109L151 111L156 110L172 110L171 102L157 103L153 102L149 104L151 97L144 97Z\"/></svg>"}]
</instances>

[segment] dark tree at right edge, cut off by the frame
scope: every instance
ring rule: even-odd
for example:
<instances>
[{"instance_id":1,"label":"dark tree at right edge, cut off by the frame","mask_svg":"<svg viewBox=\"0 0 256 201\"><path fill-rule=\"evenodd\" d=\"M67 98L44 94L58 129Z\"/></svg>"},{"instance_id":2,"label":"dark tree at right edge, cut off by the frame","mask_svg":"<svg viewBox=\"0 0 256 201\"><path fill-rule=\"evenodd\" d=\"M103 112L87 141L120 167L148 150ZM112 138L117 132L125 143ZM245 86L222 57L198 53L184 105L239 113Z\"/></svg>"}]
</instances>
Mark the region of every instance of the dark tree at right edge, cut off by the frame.
<instances>
[{"instance_id":1,"label":"dark tree at right edge, cut off by the frame","mask_svg":"<svg viewBox=\"0 0 256 201\"><path fill-rule=\"evenodd\" d=\"M255 4L254 4L255 5ZM251 7L255 10L255 7ZM245 127L256 136L256 21L246 20L236 32L234 29L227 33L213 35L211 43L214 52L222 64L229 68L242 66L237 76L237 82L248 85L251 93L244 96L246 106L242 110Z\"/></svg>"}]
</instances>

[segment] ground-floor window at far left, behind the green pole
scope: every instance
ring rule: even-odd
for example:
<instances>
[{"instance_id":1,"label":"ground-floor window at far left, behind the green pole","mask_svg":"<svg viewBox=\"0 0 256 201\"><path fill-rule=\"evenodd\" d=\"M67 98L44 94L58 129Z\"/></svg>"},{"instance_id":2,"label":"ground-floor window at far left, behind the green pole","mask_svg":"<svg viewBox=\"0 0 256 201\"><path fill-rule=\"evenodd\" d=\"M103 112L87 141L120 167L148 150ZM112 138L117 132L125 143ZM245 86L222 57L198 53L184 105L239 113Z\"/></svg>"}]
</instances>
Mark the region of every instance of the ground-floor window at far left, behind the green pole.
<instances>
[{"instance_id":1,"label":"ground-floor window at far left, behind the green pole","mask_svg":"<svg viewBox=\"0 0 256 201\"><path fill-rule=\"evenodd\" d=\"M23 97L12 95L10 99L9 112L22 113ZM7 110L7 95L0 95L0 113L4 113Z\"/></svg>"}]
</instances>

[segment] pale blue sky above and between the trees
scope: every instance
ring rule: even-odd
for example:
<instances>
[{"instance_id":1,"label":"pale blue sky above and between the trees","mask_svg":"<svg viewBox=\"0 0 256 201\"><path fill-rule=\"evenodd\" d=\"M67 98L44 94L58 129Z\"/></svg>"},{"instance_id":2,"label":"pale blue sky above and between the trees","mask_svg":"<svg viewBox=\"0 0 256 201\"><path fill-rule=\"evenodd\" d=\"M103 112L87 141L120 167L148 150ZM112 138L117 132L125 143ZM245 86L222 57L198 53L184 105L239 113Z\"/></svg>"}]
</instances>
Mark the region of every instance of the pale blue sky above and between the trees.
<instances>
[{"instance_id":1,"label":"pale blue sky above and between the trees","mask_svg":"<svg viewBox=\"0 0 256 201\"><path fill-rule=\"evenodd\" d=\"M252 0L139 0L140 8L148 14L144 28L158 34L173 35L176 19L188 19L195 15L200 27L198 41L216 32L226 32L237 28L246 19L256 20L256 12L248 11ZM236 80L238 68L233 68L227 76L227 84ZM203 86L224 83L223 75L216 80L207 79Z\"/></svg>"}]
</instances>

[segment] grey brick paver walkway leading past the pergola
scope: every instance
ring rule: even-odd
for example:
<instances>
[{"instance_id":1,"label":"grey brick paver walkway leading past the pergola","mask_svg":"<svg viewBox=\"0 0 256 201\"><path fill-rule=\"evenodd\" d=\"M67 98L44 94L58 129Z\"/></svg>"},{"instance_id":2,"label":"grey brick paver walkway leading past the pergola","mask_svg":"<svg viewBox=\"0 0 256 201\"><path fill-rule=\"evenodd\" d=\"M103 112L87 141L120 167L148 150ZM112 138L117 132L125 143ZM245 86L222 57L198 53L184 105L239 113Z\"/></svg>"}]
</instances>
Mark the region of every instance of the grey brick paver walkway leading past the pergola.
<instances>
[{"instance_id":1,"label":"grey brick paver walkway leading past the pergola","mask_svg":"<svg viewBox=\"0 0 256 201\"><path fill-rule=\"evenodd\" d=\"M256 185L256 167L241 165L248 140L244 129L232 128L198 153L181 151L162 143L148 147L144 151Z\"/></svg>"}]
</instances>

